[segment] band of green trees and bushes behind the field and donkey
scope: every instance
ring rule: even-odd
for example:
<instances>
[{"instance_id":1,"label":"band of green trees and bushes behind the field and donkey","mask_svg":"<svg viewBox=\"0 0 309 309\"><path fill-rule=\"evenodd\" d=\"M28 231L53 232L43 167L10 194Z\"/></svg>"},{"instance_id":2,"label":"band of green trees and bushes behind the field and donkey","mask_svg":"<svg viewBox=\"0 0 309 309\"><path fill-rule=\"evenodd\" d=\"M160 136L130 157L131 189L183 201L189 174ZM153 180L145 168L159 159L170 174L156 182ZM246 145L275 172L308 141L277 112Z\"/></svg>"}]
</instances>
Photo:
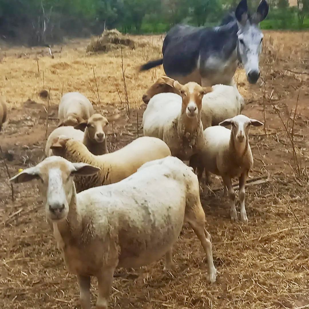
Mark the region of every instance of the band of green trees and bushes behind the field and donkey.
<instances>
[{"instance_id":1,"label":"band of green trees and bushes behind the field and donkey","mask_svg":"<svg viewBox=\"0 0 309 309\"><path fill-rule=\"evenodd\" d=\"M0 38L37 45L106 28L162 33L180 22L217 25L238 0L0 0ZM248 1L256 8L259 0ZM248 3L249 4L249 3ZM270 0L265 29L309 28L309 0Z\"/></svg>"}]
</instances>

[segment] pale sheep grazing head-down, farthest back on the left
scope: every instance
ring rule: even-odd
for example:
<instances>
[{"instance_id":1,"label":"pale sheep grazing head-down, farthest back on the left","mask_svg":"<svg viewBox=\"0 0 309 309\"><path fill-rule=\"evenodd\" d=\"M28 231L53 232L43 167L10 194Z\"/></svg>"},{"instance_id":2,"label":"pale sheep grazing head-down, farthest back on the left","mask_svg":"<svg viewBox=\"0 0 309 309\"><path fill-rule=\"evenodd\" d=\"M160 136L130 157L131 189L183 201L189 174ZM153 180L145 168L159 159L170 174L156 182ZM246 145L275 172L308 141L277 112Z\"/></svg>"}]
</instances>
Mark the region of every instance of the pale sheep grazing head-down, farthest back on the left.
<instances>
[{"instance_id":1,"label":"pale sheep grazing head-down, farthest back on the left","mask_svg":"<svg viewBox=\"0 0 309 309\"><path fill-rule=\"evenodd\" d=\"M58 117L60 126L75 126L87 121L94 113L91 102L79 92L68 92L61 98Z\"/></svg>"}]
</instances>

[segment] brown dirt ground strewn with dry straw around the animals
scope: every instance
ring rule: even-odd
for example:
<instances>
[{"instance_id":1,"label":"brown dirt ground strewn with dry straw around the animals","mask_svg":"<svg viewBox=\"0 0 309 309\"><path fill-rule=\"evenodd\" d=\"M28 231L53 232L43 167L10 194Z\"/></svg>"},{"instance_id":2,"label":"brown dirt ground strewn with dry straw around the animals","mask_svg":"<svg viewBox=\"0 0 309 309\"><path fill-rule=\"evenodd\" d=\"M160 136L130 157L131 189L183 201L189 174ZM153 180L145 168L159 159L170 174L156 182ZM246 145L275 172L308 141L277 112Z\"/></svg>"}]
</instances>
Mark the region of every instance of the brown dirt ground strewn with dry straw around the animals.
<instances>
[{"instance_id":1,"label":"brown dirt ground strewn with dry straw around the animals","mask_svg":"<svg viewBox=\"0 0 309 309\"><path fill-rule=\"evenodd\" d=\"M160 56L163 37L133 39L142 44L123 50L129 115L121 50L86 55L89 40L68 40L53 47L52 59L46 49L1 47L0 89L9 106L0 133L1 308L80 308L76 278L66 271L45 222L36 184L15 185L12 201L5 164L13 176L44 157L46 110L49 134L57 125L62 92L82 92L98 112L121 112L121 120L109 127L109 133L116 133L110 135L111 151L137 137L137 124L142 135L141 97L163 69L138 74L136 67ZM255 159L251 176L260 181L246 189L248 224L231 222L218 180L213 192L204 188L201 194L217 282L206 282L205 254L184 226L174 248L177 268L166 273L159 261L142 269L120 269L111 308L309 307L308 42L308 32L265 32L260 81L250 85L244 71L237 71L247 103L243 113L265 121L267 135L263 127L250 132ZM43 89L50 90L49 103L38 95ZM96 282L92 284L95 302Z\"/></svg>"}]
</instances>

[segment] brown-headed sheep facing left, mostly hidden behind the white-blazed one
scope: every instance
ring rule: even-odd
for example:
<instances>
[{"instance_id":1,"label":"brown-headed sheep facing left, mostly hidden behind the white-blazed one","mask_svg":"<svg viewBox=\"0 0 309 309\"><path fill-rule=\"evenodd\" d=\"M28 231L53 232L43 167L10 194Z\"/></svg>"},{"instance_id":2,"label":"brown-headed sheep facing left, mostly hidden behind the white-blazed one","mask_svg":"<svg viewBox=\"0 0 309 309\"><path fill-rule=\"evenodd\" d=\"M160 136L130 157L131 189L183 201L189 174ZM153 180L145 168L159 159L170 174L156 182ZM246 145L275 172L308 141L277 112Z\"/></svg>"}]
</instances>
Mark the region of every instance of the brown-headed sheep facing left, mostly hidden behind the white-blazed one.
<instances>
[{"instance_id":1,"label":"brown-headed sheep facing left, mostly hidden behind the white-blazed one","mask_svg":"<svg viewBox=\"0 0 309 309\"><path fill-rule=\"evenodd\" d=\"M180 95L173 87L174 79L167 76L160 77L149 87L142 99L148 104L150 99L159 94L172 92ZM203 128L218 125L224 119L238 115L244 108L244 99L237 87L227 85L214 85L212 91L206 93L202 98L201 121Z\"/></svg>"}]
</instances>

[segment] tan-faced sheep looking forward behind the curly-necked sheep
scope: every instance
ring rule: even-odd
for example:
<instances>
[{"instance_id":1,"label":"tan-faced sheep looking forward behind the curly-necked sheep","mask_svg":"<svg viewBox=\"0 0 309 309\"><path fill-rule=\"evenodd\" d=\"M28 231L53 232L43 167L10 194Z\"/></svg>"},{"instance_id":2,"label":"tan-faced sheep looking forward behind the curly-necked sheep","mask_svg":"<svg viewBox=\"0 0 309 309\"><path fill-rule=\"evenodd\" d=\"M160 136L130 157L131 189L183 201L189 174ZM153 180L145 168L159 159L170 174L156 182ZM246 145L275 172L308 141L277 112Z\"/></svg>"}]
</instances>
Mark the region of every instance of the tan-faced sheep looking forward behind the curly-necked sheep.
<instances>
[{"instance_id":1,"label":"tan-faced sheep looking forward behind the curly-necked sheep","mask_svg":"<svg viewBox=\"0 0 309 309\"><path fill-rule=\"evenodd\" d=\"M53 150L50 149L50 146L55 138L62 135L65 135L67 138L74 138L77 141L83 142L88 150L94 155L107 154L107 138L104 131L106 131L108 121L113 121L117 118L118 115L111 116L107 119L100 114L93 114L88 120L79 123L75 127L61 126L54 129L47 139L45 155L47 157L53 155Z\"/></svg>"}]
</instances>

